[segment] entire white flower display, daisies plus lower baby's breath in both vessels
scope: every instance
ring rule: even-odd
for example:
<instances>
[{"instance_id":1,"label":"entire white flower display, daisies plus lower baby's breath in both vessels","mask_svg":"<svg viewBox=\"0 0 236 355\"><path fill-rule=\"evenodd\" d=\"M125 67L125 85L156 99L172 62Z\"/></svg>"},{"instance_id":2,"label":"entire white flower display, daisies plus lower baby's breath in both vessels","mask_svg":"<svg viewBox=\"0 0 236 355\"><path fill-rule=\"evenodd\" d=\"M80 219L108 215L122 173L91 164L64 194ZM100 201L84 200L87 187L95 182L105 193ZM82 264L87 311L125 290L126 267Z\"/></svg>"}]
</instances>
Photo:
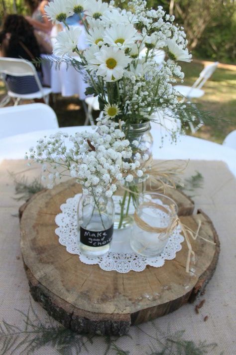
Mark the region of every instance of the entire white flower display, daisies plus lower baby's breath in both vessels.
<instances>
[{"instance_id":1,"label":"entire white flower display, daisies plus lower baby's breath in both vessels","mask_svg":"<svg viewBox=\"0 0 236 355\"><path fill-rule=\"evenodd\" d=\"M102 194L111 197L121 184L124 194L119 201L118 228L128 214L130 200L134 205L138 200L138 182L143 183L150 173L152 138L146 134L144 139L142 133L150 129L155 113L168 112L182 122L194 119L189 105L179 100L173 88L184 78L179 62L191 61L183 28L161 6L148 9L145 0L130 0L121 8L124 2L54 0L45 6L52 22L65 25L56 37L55 58L71 60L84 72L86 94L98 96L103 116L97 119L96 132L69 137L71 149L64 142L67 135L58 134L40 140L26 156L49 163L52 182L69 172L95 201ZM87 32L84 51L78 49L81 28L66 23L74 13ZM160 64L158 56L163 52ZM59 166L63 173L58 172Z\"/></svg>"}]
</instances>

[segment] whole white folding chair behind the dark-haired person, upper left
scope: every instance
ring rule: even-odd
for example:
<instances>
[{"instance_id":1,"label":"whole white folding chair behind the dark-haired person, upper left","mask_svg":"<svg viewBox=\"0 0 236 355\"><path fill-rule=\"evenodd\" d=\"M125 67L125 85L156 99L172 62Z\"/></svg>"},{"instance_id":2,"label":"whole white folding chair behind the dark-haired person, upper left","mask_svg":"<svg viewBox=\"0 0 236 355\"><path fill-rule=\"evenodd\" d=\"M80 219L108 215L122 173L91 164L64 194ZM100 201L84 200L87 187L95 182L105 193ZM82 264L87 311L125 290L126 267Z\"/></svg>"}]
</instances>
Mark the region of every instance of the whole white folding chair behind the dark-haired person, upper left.
<instances>
[{"instance_id":1,"label":"whole white folding chair behind the dark-haired person, upper left","mask_svg":"<svg viewBox=\"0 0 236 355\"><path fill-rule=\"evenodd\" d=\"M36 69L34 65L24 59L16 58L0 58L0 74L3 74L3 81L7 89L8 98L12 98L14 101L14 106L18 105L20 100L34 100L34 99L44 99L44 102L48 105L49 94L52 92L51 88L42 87L41 82L38 78ZM33 76L38 85L39 90L31 94L18 94L8 89L7 82L4 80L4 75L12 76ZM7 99L4 98L0 107L6 104ZM9 100L8 100L9 101Z\"/></svg>"}]
</instances>

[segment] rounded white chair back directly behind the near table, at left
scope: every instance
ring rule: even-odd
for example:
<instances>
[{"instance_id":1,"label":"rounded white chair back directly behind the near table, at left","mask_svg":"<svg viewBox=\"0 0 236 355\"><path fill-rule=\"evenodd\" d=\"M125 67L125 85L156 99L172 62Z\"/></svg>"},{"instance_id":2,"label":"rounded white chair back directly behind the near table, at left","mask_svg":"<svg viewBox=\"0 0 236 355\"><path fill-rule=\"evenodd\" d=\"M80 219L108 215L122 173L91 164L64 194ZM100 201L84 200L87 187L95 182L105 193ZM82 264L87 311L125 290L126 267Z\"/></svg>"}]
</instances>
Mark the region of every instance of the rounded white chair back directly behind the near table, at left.
<instances>
[{"instance_id":1,"label":"rounded white chair back directly behind the near table, at left","mask_svg":"<svg viewBox=\"0 0 236 355\"><path fill-rule=\"evenodd\" d=\"M0 108L0 138L58 127L55 112L46 104Z\"/></svg>"}]
</instances>

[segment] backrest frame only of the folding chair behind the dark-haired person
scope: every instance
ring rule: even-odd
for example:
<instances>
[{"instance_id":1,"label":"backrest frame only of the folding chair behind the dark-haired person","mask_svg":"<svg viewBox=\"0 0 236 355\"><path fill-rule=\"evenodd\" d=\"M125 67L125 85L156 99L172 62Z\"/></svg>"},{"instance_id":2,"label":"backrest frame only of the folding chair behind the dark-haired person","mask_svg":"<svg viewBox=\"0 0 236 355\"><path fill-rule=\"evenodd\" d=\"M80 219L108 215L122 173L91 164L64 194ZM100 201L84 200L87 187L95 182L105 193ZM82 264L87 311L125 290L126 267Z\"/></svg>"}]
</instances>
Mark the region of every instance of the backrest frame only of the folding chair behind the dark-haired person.
<instances>
[{"instance_id":1,"label":"backrest frame only of the folding chair behind the dark-haired person","mask_svg":"<svg viewBox=\"0 0 236 355\"><path fill-rule=\"evenodd\" d=\"M28 60L2 57L0 58L0 74L12 75L12 76L26 76L26 75L34 76L35 81L38 85L38 89L39 91L41 91L42 96L44 97L42 85L38 78L36 69L34 65ZM6 82L5 84L7 87Z\"/></svg>"}]
</instances>

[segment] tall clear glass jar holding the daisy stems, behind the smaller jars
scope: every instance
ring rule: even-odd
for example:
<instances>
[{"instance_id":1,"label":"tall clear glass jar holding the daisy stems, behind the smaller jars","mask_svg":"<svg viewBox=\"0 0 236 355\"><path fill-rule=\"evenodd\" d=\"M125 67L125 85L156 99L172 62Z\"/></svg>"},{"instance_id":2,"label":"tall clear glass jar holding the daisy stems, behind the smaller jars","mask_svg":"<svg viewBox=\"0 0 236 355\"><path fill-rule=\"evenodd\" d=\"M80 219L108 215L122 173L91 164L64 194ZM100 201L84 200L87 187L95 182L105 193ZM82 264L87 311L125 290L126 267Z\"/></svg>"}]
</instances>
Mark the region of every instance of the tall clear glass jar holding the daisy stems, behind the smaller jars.
<instances>
[{"instance_id":1,"label":"tall clear glass jar holding the daisy stems, behind the smaller jars","mask_svg":"<svg viewBox=\"0 0 236 355\"><path fill-rule=\"evenodd\" d=\"M132 148L132 157L130 161L133 162L135 160L136 153L139 153L141 156L147 155L147 161L149 161L152 157L153 145L150 122L133 124L129 127L124 127L123 129ZM146 164L147 161L140 160L141 166ZM147 166L147 168L149 167ZM121 182L120 188L118 188L118 191L113 196L116 211L114 223L115 229L123 229L132 226L133 214L137 206L137 201L140 193L145 191L145 181L147 178L148 175L144 174L141 178L134 178L132 182Z\"/></svg>"}]
</instances>

